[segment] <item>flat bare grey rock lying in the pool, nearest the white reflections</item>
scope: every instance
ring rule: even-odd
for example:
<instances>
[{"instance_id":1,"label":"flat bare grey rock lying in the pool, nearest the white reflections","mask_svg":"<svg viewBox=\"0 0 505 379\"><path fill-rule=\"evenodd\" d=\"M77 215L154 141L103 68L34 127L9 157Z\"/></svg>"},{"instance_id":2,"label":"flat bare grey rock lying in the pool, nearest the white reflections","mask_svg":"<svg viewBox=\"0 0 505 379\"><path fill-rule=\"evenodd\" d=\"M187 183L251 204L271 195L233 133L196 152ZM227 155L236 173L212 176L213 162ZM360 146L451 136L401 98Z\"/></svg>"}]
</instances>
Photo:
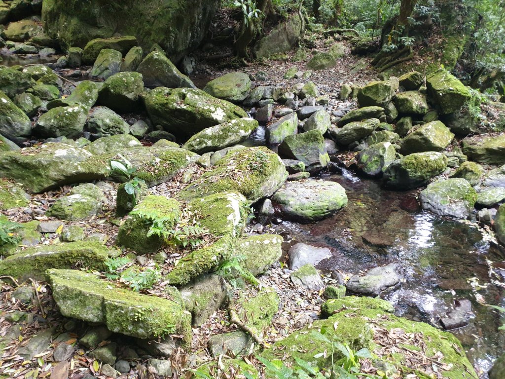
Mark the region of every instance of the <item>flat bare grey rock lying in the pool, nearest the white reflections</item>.
<instances>
[{"instance_id":1,"label":"flat bare grey rock lying in the pool, nearest the white reflections","mask_svg":"<svg viewBox=\"0 0 505 379\"><path fill-rule=\"evenodd\" d=\"M401 275L398 273L399 265L389 263L386 266L375 267L363 276L353 275L345 283L351 293L364 296L379 296L382 291L398 285Z\"/></svg>"}]
</instances>

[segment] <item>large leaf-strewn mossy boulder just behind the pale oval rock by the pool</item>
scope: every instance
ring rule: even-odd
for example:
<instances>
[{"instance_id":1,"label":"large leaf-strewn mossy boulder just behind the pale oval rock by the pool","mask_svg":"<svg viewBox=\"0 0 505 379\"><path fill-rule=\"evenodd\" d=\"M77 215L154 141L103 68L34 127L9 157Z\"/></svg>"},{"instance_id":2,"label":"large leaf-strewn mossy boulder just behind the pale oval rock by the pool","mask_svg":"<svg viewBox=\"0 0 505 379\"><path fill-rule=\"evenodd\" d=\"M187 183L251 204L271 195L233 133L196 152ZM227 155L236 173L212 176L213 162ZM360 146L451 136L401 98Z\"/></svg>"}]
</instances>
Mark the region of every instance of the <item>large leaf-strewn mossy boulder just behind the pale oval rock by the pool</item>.
<instances>
[{"instance_id":1,"label":"large leaf-strewn mossy boulder just behind the pale oval rock by the pool","mask_svg":"<svg viewBox=\"0 0 505 379\"><path fill-rule=\"evenodd\" d=\"M254 203L271 196L286 178L286 168L277 154L265 147L245 148L229 152L178 197L189 200L231 191Z\"/></svg>"}]
</instances>

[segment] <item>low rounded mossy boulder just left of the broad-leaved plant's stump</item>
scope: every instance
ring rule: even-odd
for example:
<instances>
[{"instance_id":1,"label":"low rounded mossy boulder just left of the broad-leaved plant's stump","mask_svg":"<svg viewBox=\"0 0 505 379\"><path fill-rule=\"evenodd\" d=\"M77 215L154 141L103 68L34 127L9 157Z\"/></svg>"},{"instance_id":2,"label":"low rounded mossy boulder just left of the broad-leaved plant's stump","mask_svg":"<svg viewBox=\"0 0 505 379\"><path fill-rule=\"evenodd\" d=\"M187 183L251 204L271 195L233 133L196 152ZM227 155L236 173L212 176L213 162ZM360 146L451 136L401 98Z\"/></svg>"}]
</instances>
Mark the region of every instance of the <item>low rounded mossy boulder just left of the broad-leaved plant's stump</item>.
<instances>
[{"instance_id":1,"label":"low rounded mossy boulder just left of the broad-leaved plant's stump","mask_svg":"<svg viewBox=\"0 0 505 379\"><path fill-rule=\"evenodd\" d=\"M102 209L102 202L85 195L64 196L56 200L46 212L62 220L81 221L94 216Z\"/></svg>"}]
</instances>

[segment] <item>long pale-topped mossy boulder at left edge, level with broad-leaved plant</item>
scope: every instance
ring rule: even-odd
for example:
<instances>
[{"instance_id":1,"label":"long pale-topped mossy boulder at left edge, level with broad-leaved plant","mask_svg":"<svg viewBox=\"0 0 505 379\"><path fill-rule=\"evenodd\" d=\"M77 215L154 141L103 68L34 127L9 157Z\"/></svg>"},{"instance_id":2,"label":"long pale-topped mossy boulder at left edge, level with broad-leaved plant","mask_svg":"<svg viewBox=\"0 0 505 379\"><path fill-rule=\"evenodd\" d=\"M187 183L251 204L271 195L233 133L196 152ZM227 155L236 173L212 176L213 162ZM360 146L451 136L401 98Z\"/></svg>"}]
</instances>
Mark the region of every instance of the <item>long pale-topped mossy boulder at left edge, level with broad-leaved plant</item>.
<instances>
[{"instance_id":1,"label":"long pale-topped mossy boulder at left edge, level with broad-leaved plant","mask_svg":"<svg viewBox=\"0 0 505 379\"><path fill-rule=\"evenodd\" d=\"M108 163L92 160L91 153L65 144L0 153L0 176L23 183L34 193L64 184L104 179Z\"/></svg>"}]
</instances>

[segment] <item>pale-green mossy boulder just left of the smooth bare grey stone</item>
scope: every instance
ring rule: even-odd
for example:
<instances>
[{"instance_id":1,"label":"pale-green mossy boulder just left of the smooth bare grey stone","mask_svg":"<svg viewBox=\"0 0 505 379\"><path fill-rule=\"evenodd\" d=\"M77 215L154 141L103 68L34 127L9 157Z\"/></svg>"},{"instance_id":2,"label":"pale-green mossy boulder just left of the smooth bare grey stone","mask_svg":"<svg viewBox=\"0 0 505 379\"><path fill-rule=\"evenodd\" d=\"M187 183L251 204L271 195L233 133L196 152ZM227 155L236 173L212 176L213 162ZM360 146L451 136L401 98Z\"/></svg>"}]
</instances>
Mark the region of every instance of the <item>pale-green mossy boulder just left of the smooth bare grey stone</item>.
<instances>
[{"instance_id":1,"label":"pale-green mossy boulder just left of the smooth bare grey stone","mask_svg":"<svg viewBox=\"0 0 505 379\"><path fill-rule=\"evenodd\" d=\"M282 242L282 237L276 234L244 236L237 241L233 256L242 257L243 267L258 276L280 259Z\"/></svg>"}]
</instances>

